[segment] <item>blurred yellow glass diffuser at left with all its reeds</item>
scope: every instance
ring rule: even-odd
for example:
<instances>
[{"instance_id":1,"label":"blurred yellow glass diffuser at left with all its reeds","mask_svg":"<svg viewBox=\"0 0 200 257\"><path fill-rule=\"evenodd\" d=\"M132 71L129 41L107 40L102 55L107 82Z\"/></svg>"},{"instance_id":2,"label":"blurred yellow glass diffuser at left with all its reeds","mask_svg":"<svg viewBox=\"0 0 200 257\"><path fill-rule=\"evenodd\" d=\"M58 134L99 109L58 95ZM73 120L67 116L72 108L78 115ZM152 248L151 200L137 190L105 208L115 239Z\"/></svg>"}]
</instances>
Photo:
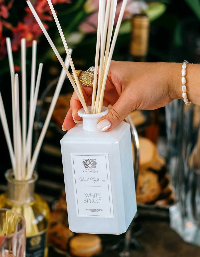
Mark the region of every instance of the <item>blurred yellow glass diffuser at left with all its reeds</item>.
<instances>
[{"instance_id":1,"label":"blurred yellow glass diffuser at left with all its reeds","mask_svg":"<svg viewBox=\"0 0 200 257\"><path fill-rule=\"evenodd\" d=\"M6 142L11 158L12 169L5 173L7 179L7 192L0 195L0 208L8 208L22 214L26 221L26 257L43 257L48 254L47 229L49 224L49 206L35 194L35 182L37 173L34 171L37 157L48 128L53 109L57 102L60 90L65 80L66 74L62 70L54 96L46 116L41 134L32 154L32 134L37 105L37 97L42 75L42 63L39 65L36 78L36 41L33 41L32 48L32 68L30 84L30 108L29 119L27 122L27 94L26 94L26 41L21 40L22 52L22 115L20 112L19 101L19 80L18 74L14 72L13 55L11 41L6 38L8 60L11 71L12 86L12 118L13 118L13 144L9 134L6 113L3 99L0 92L0 118L2 121ZM69 50L71 52L71 50ZM66 58L65 64L69 67ZM22 116L22 121L20 116ZM26 127L26 125L28 126Z\"/></svg>"}]
</instances>

